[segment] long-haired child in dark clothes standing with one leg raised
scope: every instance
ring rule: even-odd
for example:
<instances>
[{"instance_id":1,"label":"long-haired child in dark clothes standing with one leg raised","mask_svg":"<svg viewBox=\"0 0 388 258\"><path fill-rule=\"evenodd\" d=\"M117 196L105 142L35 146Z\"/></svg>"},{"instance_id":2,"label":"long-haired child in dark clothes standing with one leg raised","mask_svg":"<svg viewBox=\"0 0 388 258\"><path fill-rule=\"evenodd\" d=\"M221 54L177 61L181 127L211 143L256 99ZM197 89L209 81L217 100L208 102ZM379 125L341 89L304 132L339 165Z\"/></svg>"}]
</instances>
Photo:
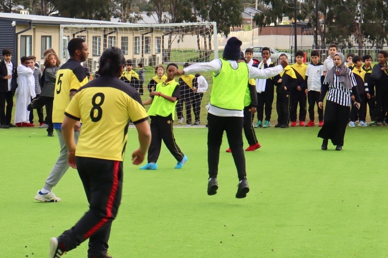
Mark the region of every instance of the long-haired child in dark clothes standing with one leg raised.
<instances>
[{"instance_id":1,"label":"long-haired child in dark clothes standing with one leg raised","mask_svg":"<svg viewBox=\"0 0 388 258\"><path fill-rule=\"evenodd\" d=\"M49 53L45 57L45 70L43 70L43 87L40 96L27 106L27 110L33 108L46 107L47 136L54 136L54 125L52 124L52 106L54 102L55 81L59 69L60 61L55 53Z\"/></svg>"}]
</instances>

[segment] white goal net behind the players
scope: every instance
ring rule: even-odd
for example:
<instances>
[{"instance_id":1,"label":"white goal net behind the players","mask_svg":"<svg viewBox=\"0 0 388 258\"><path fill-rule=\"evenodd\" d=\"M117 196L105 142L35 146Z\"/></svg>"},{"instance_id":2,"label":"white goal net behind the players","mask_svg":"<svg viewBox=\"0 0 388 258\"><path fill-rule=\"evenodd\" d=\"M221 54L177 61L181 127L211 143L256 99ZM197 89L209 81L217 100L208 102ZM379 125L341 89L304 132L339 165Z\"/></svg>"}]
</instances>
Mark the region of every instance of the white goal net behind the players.
<instances>
[{"instance_id":1,"label":"white goal net behind the players","mask_svg":"<svg viewBox=\"0 0 388 258\"><path fill-rule=\"evenodd\" d=\"M143 64L145 82L142 99L149 98L147 85L156 76L155 67L168 63L176 63L179 68L188 62L211 61L218 58L217 29L215 22L174 23L174 24L114 24L114 25L61 25L59 49L63 49L62 62L68 58L67 43L75 37L82 37L89 46L89 56L84 62L91 75L98 70L98 60L102 51L111 46L121 48L126 60L132 60L133 70L137 72L138 64ZM206 105L209 103L212 85L210 73L203 74L209 83L208 90L203 94L200 109L200 124L206 124ZM178 81L178 77L176 80ZM194 92L181 96L184 100L184 121L175 116L177 125L194 123L193 110ZM187 105L186 105L187 103ZM179 102L177 106L179 106ZM191 104L191 105L190 105ZM198 103L197 103L198 104ZM148 108L148 107L146 107ZM190 110L189 110L190 109ZM187 112L192 120L188 121ZM190 117L190 115L189 115Z\"/></svg>"}]
</instances>

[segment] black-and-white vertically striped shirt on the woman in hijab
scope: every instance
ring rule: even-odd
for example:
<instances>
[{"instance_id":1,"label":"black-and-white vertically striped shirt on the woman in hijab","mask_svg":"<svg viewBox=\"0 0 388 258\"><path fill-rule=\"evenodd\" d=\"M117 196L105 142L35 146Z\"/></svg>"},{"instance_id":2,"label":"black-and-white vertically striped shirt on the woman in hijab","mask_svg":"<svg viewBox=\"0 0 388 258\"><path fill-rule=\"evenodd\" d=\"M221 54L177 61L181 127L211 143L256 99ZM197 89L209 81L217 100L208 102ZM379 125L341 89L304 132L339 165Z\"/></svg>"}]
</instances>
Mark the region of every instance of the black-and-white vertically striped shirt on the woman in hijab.
<instances>
[{"instance_id":1,"label":"black-and-white vertically striped shirt on the woman in hijab","mask_svg":"<svg viewBox=\"0 0 388 258\"><path fill-rule=\"evenodd\" d=\"M356 78L352 71L349 69L349 77L352 82L352 87L357 86ZM338 76L334 74L334 85L329 85L329 92L327 93L327 100L337 103L341 106L351 106L352 100L350 98L352 89L346 89L343 87L343 83L339 82Z\"/></svg>"}]
</instances>

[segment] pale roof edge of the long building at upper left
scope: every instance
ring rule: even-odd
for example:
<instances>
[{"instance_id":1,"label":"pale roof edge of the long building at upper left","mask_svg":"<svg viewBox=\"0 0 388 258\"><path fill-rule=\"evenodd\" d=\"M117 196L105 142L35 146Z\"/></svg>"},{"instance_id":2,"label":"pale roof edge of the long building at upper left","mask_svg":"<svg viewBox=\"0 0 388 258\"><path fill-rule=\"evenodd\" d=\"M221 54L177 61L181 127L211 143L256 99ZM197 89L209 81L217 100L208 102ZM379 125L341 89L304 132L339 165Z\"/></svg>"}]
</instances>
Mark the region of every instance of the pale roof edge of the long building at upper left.
<instances>
[{"instance_id":1,"label":"pale roof edge of the long building at upper left","mask_svg":"<svg viewBox=\"0 0 388 258\"><path fill-rule=\"evenodd\" d=\"M56 16L42 16L42 15L22 15L13 13L0 13L0 20L16 21L17 23L30 23L33 24L46 24L46 25L58 25L58 24L125 24L121 22L112 21L99 21L99 20L87 20L76 19Z\"/></svg>"}]
</instances>

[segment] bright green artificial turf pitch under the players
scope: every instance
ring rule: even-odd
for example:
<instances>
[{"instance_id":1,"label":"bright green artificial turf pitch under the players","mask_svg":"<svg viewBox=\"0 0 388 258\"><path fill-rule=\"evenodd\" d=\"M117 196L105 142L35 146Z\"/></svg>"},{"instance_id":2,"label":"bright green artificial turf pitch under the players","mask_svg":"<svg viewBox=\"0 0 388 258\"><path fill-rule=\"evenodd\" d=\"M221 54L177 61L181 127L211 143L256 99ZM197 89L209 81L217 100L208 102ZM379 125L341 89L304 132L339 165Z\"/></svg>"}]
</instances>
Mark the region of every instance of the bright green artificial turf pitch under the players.
<instances>
[{"instance_id":1,"label":"bright green artificial turf pitch under the players","mask_svg":"<svg viewBox=\"0 0 388 258\"><path fill-rule=\"evenodd\" d=\"M208 196L207 128L175 128L188 156L182 169L162 146L158 169L130 163L129 130L122 203L113 222L114 258L380 258L388 256L388 127L347 128L341 152L321 150L319 127L257 128L262 147L245 152L250 192L236 199L237 173L226 137L219 190ZM77 171L34 200L54 164L57 137L45 129L0 129L0 258L46 258L49 238L72 227L88 205ZM244 139L245 141L245 139ZM248 145L244 142L244 148ZM87 243L65 258L86 258ZM32 254L33 253L33 254Z\"/></svg>"}]
</instances>

